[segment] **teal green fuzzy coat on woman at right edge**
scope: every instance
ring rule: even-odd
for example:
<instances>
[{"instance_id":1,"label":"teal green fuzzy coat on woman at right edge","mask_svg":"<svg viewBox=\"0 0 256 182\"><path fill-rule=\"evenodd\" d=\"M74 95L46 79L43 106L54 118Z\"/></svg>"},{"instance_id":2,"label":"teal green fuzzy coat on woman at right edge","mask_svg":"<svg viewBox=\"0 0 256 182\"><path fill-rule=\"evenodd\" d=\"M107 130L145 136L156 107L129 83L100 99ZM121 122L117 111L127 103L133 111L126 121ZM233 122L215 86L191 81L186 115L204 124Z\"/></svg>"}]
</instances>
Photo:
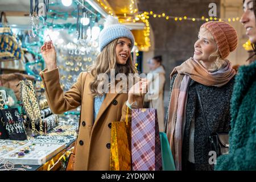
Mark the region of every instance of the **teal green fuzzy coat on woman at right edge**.
<instances>
[{"instance_id":1,"label":"teal green fuzzy coat on woman at right edge","mask_svg":"<svg viewBox=\"0 0 256 182\"><path fill-rule=\"evenodd\" d=\"M230 151L216 170L256 170L256 61L238 70L231 100Z\"/></svg>"}]
</instances>

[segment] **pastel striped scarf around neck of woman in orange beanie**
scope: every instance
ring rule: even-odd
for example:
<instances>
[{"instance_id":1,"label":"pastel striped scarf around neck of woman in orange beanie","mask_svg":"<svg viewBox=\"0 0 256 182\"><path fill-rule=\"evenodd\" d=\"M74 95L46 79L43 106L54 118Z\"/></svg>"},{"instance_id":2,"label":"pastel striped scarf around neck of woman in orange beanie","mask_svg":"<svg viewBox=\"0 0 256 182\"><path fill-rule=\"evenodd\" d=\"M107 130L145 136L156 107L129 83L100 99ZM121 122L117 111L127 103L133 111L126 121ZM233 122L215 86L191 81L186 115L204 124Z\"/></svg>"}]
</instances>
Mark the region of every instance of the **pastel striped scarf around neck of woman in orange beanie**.
<instances>
[{"instance_id":1,"label":"pastel striped scarf around neck of woman in orange beanie","mask_svg":"<svg viewBox=\"0 0 256 182\"><path fill-rule=\"evenodd\" d=\"M167 137L177 171L181 171L183 123L185 123L185 104L187 102L189 80L192 79L207 86L221 87L236 75L236 71L232 68L230 61L227 60L227 62L226 67L216 72L209 72L199 61L191 58L180 66L175 67L170 75L172 79L172 76L176 72L178 73L171 90L167 118Z\"/></svg>"}]
</instances>

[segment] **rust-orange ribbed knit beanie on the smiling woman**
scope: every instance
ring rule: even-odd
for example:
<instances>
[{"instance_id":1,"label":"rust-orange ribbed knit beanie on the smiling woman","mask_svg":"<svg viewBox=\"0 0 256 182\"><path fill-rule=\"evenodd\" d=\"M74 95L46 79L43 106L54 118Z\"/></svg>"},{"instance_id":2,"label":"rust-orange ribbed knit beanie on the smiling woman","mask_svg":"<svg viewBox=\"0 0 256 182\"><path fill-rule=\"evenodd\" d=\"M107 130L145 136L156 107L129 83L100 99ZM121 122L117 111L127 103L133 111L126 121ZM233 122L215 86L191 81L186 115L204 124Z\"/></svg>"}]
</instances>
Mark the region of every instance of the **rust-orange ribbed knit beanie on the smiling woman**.
<instances>
[{"instance_id":1,"label":"rust-orange ribbed knit beanie on the smiling woman","mask_svg":"<svg viewBox=\"0 0 256 182\"><path fill-rule=\"evenodd\" d=\"M204 23L201 27L205 27L210 31L223 59L228 57L229 53L237 48L237 31L230 24L210 21Z\"/></svg>"}]
</instances>

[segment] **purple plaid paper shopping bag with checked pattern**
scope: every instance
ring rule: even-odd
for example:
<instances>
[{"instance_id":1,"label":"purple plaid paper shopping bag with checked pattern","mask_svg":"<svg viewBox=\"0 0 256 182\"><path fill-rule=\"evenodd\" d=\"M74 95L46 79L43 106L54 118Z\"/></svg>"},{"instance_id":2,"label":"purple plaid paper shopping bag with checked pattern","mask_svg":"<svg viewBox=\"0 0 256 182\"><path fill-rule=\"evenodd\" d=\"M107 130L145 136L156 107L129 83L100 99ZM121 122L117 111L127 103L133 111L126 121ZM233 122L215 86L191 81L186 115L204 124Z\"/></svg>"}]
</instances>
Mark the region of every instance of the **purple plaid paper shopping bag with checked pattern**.
<instances>
[{"instance_id":1,"label":"purple plaid paper shopping bag with checked pattern","mask_svg":"<svg viewBox=\"0 0 256 182\"><path fill-rule=\"evenodd\" d=\"M131 160L133 171L162 171L156 109L131 111Z\"/></svg>"}]
</instances>

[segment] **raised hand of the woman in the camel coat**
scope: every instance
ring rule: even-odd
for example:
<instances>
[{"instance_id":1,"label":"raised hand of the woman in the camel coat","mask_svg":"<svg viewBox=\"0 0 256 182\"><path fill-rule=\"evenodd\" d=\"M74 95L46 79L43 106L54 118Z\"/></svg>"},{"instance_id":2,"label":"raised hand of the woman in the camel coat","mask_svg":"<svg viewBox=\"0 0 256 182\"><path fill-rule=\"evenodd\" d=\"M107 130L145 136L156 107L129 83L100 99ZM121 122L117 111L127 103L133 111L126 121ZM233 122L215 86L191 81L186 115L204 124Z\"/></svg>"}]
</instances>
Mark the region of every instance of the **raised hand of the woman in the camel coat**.
<instances>
[{"instance_id":1,"label":"raised hand of the woman in the camel coat","mask_svg":"<svg viewBox=\"0 0 256 182\"><path fill-rule=\"evenodd\" d=\"M41 47L41 53L44 61L46 62L46 68L48 71L57 68L56 51L51 41L43 44Z\"/></svg>"}]
</instances>

